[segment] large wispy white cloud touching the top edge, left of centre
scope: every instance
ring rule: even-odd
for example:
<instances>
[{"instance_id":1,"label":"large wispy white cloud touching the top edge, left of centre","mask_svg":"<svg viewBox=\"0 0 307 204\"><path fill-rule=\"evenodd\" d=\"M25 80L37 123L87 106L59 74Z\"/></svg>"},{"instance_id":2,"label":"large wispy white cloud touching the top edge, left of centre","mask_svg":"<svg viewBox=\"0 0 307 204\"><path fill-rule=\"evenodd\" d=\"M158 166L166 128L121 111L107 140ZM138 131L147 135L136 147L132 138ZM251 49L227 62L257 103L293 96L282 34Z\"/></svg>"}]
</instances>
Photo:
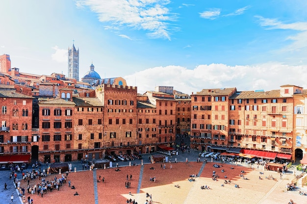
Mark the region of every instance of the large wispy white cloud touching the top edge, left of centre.
<instances>
[{"instance_id":1,"label":"large wispy white cloud touching the top edge, left of centre","mask_svg":"<svg viewBox=\"0 0 307 204\"><path fill-rule=\"evenodd\" d=\"M85 6L98 14L100 22L112 23L106 28L143 29L152 38L170 40L169 22L176 19L166 7L169 0L78 0L78 8Z\"/></svg>"}]
</instances>

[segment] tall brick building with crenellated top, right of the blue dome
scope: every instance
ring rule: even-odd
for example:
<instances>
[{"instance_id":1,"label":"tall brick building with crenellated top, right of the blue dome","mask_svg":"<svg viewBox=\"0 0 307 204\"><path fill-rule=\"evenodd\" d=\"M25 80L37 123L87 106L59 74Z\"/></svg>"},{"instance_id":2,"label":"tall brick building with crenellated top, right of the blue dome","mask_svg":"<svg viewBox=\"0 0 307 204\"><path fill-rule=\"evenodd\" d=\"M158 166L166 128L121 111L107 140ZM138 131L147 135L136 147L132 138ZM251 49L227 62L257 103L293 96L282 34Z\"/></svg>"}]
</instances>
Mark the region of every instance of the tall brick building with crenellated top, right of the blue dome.
<instances>
[{"instance_id":1,"label":"tall brick building with crenellated top, right of the blue dome","mask_svg":"<svg viewBox=\"0 0 307 204\"><path fill-rule=\"evenodd\" d=\"M137 139L137 88L102 84L96 95L103 110L103 154L133 154Z\"/></svg>"}]
</instances>

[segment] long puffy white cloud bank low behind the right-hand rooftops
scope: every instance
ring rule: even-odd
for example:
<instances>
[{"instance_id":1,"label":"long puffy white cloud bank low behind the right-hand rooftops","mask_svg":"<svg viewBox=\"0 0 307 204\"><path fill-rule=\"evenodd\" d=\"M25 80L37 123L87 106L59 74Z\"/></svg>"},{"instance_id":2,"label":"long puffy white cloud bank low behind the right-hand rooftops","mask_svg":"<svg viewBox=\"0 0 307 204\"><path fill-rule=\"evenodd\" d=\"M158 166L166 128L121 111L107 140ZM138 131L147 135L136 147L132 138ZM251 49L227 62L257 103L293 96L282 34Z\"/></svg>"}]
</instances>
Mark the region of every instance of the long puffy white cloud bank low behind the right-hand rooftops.
<instances>
[{"instance_id":1,"label":"long puffy white cloud bank low behind the right-hand rooftops","mask_svg":"<svg viewBox=\"0 0 307 204\"><path fill-rule=\"evenodd\" d=\"M296 74L291 74L291 73ZM300 76L300 77L298 77ZM175 90L191 94L202 89L236 87L238 91L276 90L293 84L307 88L307 65L288 66L266 63L254 66L199 65L194 69L180 66L148 68L124 77L129 86L137 86L139 93L155 86L173 86ZM135 84L136 82L136 84Z\"/></svg>"}]
</instances>

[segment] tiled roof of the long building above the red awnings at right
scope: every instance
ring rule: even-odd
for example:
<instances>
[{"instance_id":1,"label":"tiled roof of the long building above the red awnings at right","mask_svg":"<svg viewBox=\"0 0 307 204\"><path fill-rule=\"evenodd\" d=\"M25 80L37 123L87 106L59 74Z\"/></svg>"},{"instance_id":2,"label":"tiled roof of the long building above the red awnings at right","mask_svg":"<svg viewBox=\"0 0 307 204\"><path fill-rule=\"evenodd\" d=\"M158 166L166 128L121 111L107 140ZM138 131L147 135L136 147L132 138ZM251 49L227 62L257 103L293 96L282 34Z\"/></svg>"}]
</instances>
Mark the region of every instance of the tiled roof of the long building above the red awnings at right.
<instances>
[{"instance_id":1,"label":"tiled roof of the long building above the red awnings at right","mask_svg":"<svg viewBox=\"0 0 307 204\"><path fill-rule=\"evenodd\" d=\"M272 90L272 91L261 91L261 92L255 92L255 91L238 91L232 96L230 96L230 99L244 99L244 98L290 98L289 96L281 96L280 90Z\"/></svg>"}]
</instances>

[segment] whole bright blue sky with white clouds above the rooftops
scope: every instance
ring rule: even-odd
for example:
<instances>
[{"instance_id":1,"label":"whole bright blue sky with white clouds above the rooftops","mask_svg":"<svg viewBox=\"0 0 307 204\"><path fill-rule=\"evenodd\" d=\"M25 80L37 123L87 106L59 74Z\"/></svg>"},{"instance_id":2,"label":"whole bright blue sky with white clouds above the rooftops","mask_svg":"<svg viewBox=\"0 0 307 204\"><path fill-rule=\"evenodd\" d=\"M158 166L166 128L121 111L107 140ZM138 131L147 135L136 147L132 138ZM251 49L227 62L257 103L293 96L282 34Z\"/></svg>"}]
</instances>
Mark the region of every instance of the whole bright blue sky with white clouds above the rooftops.
<instances>
[{"instance_id":1,"label":"whole bright blue sky with white clouds above the rooftops","mask_svg":"<svg viewBox=\"0 0 307 204\"><path fill-rule=\"evenodd\" d=\"M307 88L306 0L2 0L0 54L21 72L124 77L139 93L174 86Z\"/></svg>"}]
</instances>

